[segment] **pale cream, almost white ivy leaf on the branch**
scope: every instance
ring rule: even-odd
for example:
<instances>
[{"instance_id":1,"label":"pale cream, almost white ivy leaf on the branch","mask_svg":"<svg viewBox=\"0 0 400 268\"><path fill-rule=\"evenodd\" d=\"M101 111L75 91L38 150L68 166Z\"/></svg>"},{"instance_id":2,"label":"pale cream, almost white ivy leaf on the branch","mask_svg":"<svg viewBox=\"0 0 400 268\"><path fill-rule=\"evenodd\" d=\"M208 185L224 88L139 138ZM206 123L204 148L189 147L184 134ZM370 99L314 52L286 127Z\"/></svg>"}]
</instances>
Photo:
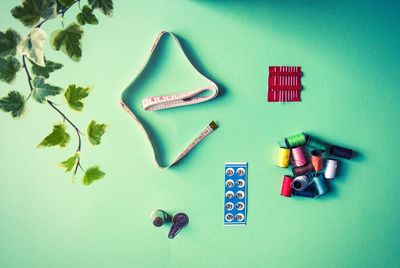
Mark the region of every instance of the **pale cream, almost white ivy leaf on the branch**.
<instances>
[{"instance_id":1,"label":"pale cream, almost white ivy leaf on the branch","mask_svg":"<svg viewBox=\"0 0 400 268\"><path fill-rule=\"evenodd\" d=\"M37 65L45 67L43 44L46 39L46 32L41 28L35 28L18 44L18 52L21 55L26 55Z\"/></svg>"}]
</instances>

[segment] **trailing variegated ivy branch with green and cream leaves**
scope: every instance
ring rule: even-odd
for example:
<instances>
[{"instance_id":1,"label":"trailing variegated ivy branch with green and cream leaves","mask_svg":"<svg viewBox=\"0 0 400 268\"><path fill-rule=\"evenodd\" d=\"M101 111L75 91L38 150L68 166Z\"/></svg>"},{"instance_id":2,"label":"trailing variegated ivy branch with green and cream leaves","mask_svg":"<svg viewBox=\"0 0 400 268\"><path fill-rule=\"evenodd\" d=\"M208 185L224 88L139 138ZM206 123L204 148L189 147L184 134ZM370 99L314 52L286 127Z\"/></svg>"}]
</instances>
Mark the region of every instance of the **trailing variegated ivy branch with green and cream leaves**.
<instances>
[{"instance_id":1,"label":"trailing variegated ivy branch with green and cream leaves","mask_svg":"<svg viewBox=\"0 0 400 268\"><path fill-rule=\"evenodd\" d=\"M44 55L44 43L47 33L42 26L57 17L61 18L62 29L51 34L50 45L54 50L62 51L73 61L80 61L82 57L83 25L96 25L99 23L94 10L100 10L104 15L112 16L112 0L87 0L87 5L81 8L82 0L22 0L20 6L11 10L14 18L21 21L26 27L31 28L29 34L22 37L14 29L0 32L0 81L12 84L20 69L24 69L29 95L25 97L21 92L12 90L7 96L0 99L0 110L10 113L12 117L21 117L25 111L28 101L34 99L38 103L46 103L61 118L62 123L53 126L52 132L47 135L38 147L66 147L70 141L67 125L71 126L77 135L78 145L73 156L62 161L59 165L65 172L73 170L73 177L78 168L84 172L82 182L89 185L104 177L105 173L98 166L92 166L86 170L81 165L82 135L85 135L63 112L58 105L49 98L64 93L64 100L70 109L82 111L83 100L88 97L90 87L76 86L70 84L66 89L51 85L47 82L51 73L63 67L62 64L48 60ZM64 27L64 15L72 6L78 4L80 13L76 15L76 22ZM22 65L15 57L17 52L22 57ZM28 68L30 63L30 70ZM86 135L89 143L99 145L101 137L107 126L92 120L87 127Z\"/></svg>"}]
</instances>

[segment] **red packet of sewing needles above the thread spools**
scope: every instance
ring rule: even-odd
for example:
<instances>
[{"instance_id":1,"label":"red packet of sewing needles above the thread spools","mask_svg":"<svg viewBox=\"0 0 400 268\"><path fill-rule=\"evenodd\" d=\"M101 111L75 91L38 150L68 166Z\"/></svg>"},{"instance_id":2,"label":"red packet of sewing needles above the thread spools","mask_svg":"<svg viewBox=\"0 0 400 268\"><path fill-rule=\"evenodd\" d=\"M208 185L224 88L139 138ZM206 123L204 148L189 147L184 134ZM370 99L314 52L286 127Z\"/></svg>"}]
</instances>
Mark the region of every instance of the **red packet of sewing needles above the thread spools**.
<instances>
[{"instance_id":1,"label":"red packet of sewing needles above the thread spools","mask_svg":"<svg viewBox=\"0 0 400 268\"><path fill-rule=\"evenodd\" d=\"M270 66L268 76L268 102L300 101L301 67Z\"/></svg>"}]
</instances>

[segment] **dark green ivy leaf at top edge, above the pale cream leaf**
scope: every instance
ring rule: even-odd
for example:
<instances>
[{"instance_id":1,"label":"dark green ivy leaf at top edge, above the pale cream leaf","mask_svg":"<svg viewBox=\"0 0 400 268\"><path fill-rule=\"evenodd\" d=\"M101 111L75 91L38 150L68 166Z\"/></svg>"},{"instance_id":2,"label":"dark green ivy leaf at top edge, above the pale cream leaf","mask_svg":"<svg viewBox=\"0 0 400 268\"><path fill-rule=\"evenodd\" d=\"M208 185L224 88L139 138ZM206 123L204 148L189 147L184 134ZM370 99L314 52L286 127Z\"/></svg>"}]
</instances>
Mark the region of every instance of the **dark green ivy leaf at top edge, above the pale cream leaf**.
<instances>
[{"instance_id":1,"label":"dark green ivy leaf at top edge, above the pale cream leaf","mask_svg":"<svg viewBox=\"0 0 400 268\"><path fill-rule=\"evenodd\" d=\"M57 4L55 0L23 0L22 6L14 7L11 14L25 26L33 27L40 21L40 18L56 17Z\"/></svg>"}]
</instances>

